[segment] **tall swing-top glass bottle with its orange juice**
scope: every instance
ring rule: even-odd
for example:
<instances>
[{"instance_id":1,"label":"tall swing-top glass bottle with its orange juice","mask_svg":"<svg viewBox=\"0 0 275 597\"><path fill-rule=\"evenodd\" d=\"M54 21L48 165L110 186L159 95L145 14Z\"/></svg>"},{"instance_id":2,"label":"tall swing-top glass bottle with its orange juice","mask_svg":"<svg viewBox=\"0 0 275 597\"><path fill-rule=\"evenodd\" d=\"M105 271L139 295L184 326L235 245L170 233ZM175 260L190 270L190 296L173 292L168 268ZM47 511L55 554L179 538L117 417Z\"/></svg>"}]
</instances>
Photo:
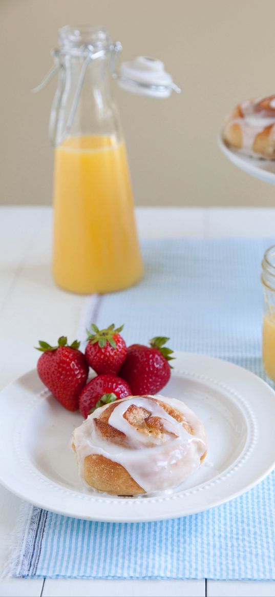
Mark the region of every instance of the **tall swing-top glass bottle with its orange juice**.
<instances>
[{"instance_id":1,"label":"tall swing-top glass bottle with its orange juice","mask_svg":"<svg viewBox=\"0 0 275 597\"><path fill-rule=\"evenodd\" d=\"M53 275L65 290L107 293L143 273L118 112L116 48L104 29L63 27L50 136L55 145Z\"/></svg>"}]
</instances>

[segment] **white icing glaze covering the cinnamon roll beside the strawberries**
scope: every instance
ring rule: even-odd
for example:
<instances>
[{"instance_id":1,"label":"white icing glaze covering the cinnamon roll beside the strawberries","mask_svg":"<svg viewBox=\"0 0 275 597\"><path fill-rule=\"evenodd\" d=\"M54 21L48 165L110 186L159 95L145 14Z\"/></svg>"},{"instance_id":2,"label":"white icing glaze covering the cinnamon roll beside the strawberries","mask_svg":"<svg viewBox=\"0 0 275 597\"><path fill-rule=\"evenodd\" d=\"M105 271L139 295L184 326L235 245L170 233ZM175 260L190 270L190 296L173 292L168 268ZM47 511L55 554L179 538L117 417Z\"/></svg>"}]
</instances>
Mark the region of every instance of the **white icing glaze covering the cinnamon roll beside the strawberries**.
<instances>
[{"instance_id":1,"label":"white icing glaze covering the cinnamon roll beside the strawberries","mask_svg":"<svg viewBox=\"0 0 275 597\"><path fill-rule=\"evenodd\" d=\"M193 435L184 429L182 422L166 413L157 404L157 399L180 411L193 429ZM163 432L155 436L137 430L123 417L131 405L149 411L152 417L159 417ZM200 466L200 458L207 450L206 432L196 414L184 402L163 396L130 396L120 400L109 416L109 425L125 433L130 447L115 444L98 432L94 420L108 407L110 404L95 410L73 432L72 442L82 479L84 460L90 454L101 454L121 464L146 493L176 487Z\"/></svg>"}]
</instances>

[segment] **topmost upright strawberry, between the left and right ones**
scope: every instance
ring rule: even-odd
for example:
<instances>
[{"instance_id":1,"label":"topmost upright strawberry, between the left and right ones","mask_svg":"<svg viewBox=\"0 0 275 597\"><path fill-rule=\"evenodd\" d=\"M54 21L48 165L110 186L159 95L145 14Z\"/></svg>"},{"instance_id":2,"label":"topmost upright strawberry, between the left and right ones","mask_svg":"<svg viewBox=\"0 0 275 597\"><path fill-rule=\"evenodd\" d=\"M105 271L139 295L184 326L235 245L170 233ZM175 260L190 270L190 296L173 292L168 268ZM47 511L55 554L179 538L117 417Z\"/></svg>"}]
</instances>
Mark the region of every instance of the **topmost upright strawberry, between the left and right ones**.
<instances>
[{"instance_id":1,"label":"topmost upright strawberry, between the left and right ones","mask_svg":"<svg viewBox=\"0 0 275 597\"><path fill-rule=\"evenodd\" d=\"M115 330L115 324L106 330L98 330L97 325L91 325L94 334L87 330L88 344L85 350L86 361L98 374L109 373L116 375L125 361L127 348L120 336L123 325Z\"/></svg>"}]
</instances>

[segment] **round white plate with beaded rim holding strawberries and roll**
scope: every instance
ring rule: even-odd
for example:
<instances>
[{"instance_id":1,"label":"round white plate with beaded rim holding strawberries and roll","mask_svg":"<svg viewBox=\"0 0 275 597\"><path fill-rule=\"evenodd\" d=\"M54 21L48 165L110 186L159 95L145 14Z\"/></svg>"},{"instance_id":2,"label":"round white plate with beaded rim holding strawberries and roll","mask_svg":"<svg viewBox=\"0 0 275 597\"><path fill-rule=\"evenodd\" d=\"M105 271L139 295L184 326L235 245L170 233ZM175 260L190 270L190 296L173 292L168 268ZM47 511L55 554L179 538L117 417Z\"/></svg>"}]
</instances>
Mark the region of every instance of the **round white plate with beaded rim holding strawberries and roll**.
<instances>
[{"instance_id":1,"label":"round white plate with beaded rim holding strawberries and roll","mask_svg":"<svg viewBox=\"0 0 275 597\"><path fill-rule=\"evenodd\" d=\"M83 490L70 436L82 417L45 390L36 371L0 394L0 482L37 506L76 518L137 522L185 516L239 496L275 465L275 392L259 377L209 356L176 353L163 394L182 399L205 424L209 452L171 494L109 497Z\"/></svg>"}]
</instances>

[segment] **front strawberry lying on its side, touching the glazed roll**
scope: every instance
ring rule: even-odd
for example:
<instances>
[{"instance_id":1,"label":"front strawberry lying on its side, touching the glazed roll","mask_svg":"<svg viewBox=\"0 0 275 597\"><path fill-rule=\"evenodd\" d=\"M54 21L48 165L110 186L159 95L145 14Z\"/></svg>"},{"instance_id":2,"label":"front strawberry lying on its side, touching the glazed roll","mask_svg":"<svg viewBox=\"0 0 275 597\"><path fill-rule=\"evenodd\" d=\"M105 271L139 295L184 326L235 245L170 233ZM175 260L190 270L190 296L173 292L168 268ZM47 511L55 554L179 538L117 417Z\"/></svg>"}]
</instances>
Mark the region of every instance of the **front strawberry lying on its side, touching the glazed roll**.
<instances>
[{"instance_id":1,"label":"front strawberry lying on its side, touching the glazed roll","mask_svg":"<svg viewBox=\"0 0 275 597\"><path fill-rule=\"evenodd\" d=\"M79 410L84 418L88 417L95 408L118 398L131 396L128 383L114 375L98 375L89 381L79 396Z\"/></svg>"}]
</instances>

